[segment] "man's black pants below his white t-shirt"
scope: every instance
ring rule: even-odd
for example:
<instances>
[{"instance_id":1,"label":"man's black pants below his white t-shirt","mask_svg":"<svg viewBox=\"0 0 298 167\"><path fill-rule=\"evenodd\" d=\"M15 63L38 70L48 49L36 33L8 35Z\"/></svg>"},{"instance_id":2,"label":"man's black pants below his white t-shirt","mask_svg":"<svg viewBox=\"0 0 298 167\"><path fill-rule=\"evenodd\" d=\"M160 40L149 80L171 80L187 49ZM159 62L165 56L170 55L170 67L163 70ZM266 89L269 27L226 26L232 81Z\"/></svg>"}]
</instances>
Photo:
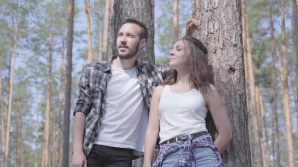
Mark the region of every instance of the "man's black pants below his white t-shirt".
<instances>
[{"instance_id":1,"label":"man's black pants below his white t-shirt","mask_svg":"<svg viewBox=\"0 0 298 167\"><path fill-rule=\"evenodd\" d=\"M93 145L87 167L131 167L132 149Z\"/></svg>"}]
</instances>

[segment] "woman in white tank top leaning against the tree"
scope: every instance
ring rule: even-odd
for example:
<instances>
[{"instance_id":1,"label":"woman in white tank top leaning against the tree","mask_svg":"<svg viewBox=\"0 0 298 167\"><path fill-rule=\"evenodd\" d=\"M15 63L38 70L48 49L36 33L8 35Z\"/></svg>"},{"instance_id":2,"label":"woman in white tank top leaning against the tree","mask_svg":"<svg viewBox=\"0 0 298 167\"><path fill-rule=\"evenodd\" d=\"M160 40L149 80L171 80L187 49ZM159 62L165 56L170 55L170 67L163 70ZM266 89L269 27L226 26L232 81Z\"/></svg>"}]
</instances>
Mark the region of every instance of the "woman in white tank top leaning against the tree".
<instances>
[{"instance_id":1,"label":"woman in white tank top leaning against the tree","mask_svg":"<svg viewBox=\"0 0 298 167\"><path fill-rule=\"evenodd\" d=\"M224 167L220 154L232 138L231 127L206 47L185 36L174 43L169 65L171 72L151 99L144 167L151 167L158 134L160 152L153 167ZM214 143L205 124L208 110L218 131Z\"/></svg>"}]
</instances>

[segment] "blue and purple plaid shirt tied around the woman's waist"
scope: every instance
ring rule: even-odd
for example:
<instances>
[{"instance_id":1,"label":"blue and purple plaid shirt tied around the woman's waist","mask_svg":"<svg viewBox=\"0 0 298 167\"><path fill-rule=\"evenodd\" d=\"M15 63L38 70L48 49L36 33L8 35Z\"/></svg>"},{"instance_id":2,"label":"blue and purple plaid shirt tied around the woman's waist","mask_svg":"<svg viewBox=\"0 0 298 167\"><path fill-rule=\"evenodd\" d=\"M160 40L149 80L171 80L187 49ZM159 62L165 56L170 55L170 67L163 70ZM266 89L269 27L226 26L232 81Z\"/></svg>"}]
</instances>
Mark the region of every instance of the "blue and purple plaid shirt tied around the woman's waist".
<instances>
[{"instance_id":1,"label":"blue and purple plaid shirt tied around the woman's waist","mask_svg":"<svg viewBox=\"0 0 298 167\"><path fill-rule=\"evenodd\" d=\"M196 167L196 160L195 160L195 147L210 147L216 153L216 156L219 160L219 167L224 167L224 161L221 158L221 155L218 149L215 147L211 136L203 135L198 138L186 141L178 141L177 143L168 145L161 145L159 155L154 162L152 167L161 167L163 160L166 156L173 153L174 151L183 148L183 153L179 160L179 167Z\"/></svg>"}]
</instances>

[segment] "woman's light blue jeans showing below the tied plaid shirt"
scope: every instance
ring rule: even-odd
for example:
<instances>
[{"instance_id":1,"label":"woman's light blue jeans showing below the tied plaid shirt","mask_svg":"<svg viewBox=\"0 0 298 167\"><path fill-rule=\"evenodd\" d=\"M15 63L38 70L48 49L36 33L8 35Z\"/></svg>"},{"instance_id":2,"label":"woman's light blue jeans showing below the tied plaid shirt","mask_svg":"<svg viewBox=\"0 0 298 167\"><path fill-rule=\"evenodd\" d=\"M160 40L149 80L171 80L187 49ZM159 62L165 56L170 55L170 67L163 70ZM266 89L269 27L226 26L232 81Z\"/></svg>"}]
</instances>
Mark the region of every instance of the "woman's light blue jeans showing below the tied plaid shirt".
<instances>
[{"instance_id":1,"label":"woman's light blue jeans showing below the tied plaid shirt","mask_svg":"<svg viewBox=\"0 0 298 167\"><path fill-rule=\"evenodd\" d=\"M196 167L218 167L219 160L210 147L196 147ZM162 167L179 167L179 160L183 150L176 150L167 155L163 160Z\"/></svg>"}]
</instances>

